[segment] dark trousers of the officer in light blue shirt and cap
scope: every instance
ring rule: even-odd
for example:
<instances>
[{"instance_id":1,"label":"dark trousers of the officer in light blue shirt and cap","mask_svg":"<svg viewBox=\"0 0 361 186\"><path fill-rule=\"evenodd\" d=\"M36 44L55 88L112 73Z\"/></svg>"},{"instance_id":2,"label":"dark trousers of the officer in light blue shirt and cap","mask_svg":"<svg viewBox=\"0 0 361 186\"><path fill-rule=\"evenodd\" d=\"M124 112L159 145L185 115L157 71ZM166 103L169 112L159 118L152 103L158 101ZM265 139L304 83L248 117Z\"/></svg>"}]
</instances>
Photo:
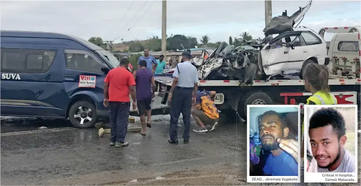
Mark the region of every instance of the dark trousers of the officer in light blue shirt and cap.
<instances>
[{"instance_id":1,"label":"dark trousers of the officer in light blue shirt and cap","mask_svg":"<svg viewBox=\"0 0 361 186\"><path fill-rule=\"evenodd\" d=\"M189 128L190 128L190 110L192 108L192 92L193 88L182 88L176 87L172 95L171 102L171 121L169 125L169 136L171 140L178 139L178 119L180 113L183 116L184 133L183 139L189 139Z\"/></svg>"}]
</instances>

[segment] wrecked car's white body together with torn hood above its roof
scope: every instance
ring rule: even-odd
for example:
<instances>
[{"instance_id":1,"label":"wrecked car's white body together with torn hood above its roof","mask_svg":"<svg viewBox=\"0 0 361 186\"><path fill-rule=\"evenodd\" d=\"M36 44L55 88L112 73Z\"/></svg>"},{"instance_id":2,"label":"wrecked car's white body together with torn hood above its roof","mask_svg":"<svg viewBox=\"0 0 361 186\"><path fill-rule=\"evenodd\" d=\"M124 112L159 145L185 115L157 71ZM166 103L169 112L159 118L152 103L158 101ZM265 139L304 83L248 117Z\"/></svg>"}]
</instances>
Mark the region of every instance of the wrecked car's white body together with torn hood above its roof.
<instances>
[{"instance_id":1,"label":"wrecked car's white body together with torn hood above its roof","mask_svg":"<svg viewBox=\"0 0 361 186\"><path fill-rule=\"evenodd\" d=\"M292 74L299 74L302 78L307 64L328 64L326 41L309 28L294 28L295 23L301 23L311 5L312 1L309 1L306 7L300 8L291 17L288 17L286 12L282 16L274 17L263 30L268 40L270 35L279 34L258 54L260 73L267 75L268 79Z\"/></svg>"}]
</instances>

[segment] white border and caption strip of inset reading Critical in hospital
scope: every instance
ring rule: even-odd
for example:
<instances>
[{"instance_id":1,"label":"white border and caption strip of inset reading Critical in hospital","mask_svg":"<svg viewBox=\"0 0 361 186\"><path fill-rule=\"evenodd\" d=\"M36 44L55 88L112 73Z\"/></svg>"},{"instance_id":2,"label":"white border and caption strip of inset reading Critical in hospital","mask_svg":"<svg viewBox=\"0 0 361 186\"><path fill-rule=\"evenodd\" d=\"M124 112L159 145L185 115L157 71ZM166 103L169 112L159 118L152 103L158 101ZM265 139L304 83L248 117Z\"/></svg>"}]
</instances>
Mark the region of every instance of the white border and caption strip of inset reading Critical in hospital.
<instances>
[{"instance_id":1,"label":"white border and caption strip of inset reading Critical in hospital","mask_svg":"<svg viewBox=\"0 0 361 186\"><path fill-rule=\"evenodd\" d=\"M335 108L335 107L348 107L348 108L354 108L355 109L355 126L354 126L354 132L355 132L355 166L356 166L356 172L342 172L342 173L348 173L348 174L351 174L352 178L354 179L354 181L344 181L344 180L338 180L338 178L341 178L340 176L338 176L337 180L330 180L330 181L326 181L325 180L325 177L326 176L323 176L322 174L324 173L321 173L321 172L307 172L307 170L305 170L304 172L304 182L308 182L308 183L318 183L318 182L329 182L329 183L340 183L340 182L354 182L356 183L357 182L357 173L358 173L358 159L357 159L357 155L358 155L358 151L357 151L357 105L304 105L304 109L305 109L305 112L304 112L304 123L305 123L305 131L307 130L307 126L308 126L308 123L306 122L307 121L307 109L308 108L312 108L312 107L318 107L318 108ZM305 141L307 141L307 135L304 136L305 138ZM304 154L306 155L307 154L307 144L305 143L305 148L304 148ZM304 167L307 167L307 161L304 162ZM340 172L341 173L341 172ZM335 177L329 177L329 178L335 178Z\"/></svg>"}]
</instances>

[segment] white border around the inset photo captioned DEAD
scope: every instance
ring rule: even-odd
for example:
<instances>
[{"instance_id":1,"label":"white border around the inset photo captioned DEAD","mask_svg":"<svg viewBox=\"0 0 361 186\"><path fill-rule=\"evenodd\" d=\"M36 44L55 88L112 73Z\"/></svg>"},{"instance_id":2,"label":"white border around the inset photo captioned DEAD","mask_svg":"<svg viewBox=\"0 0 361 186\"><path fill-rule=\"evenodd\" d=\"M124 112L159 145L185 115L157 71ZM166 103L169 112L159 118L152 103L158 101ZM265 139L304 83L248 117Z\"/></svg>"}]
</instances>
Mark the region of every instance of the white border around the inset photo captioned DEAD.
<instances>
[{"instance_id":1,"label":"white border around the inset photo captioned DEAD","mask_svg":"<svg viewBox=\"0 0 361 186\"><path fill-rule=\"evenodd\" d=\"M281 183L281 182L301 182L301 171L300 171L300 163L301 163L301 154L298 157L298 176L250 176L249 164L250 164L250 149L249 149L249 133L250 133L250 108L254 107L289 107L289 108L298 108L298 145L299 145L299 154L301 152L301 109L300 105L247 105L247 182L248 183ZM257 180L258 179L258 180ZM277 180L274 180L277 179Z\"/></svg>"}]
</instances>

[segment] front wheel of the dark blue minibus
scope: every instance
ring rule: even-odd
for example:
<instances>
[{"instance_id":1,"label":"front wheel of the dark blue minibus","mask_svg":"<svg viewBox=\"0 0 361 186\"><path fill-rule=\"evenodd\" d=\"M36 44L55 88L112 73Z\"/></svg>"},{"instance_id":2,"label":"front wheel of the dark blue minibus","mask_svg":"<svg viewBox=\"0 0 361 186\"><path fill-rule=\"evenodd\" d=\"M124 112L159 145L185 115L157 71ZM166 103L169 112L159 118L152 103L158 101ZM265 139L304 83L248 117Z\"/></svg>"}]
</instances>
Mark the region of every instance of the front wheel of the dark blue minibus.
<instances>
[{"instance_id":1,"label":"front wheel of the dark blue minibus","mask_svg":"<svg viewBox=\"0 0 361 186\"><path fill-rule=\"evenodd\" d=\"M74 127L90 128L97 121L97 110L91 102L78 101L70 107L68 116Z\"/></svg>"}]
</instances>

